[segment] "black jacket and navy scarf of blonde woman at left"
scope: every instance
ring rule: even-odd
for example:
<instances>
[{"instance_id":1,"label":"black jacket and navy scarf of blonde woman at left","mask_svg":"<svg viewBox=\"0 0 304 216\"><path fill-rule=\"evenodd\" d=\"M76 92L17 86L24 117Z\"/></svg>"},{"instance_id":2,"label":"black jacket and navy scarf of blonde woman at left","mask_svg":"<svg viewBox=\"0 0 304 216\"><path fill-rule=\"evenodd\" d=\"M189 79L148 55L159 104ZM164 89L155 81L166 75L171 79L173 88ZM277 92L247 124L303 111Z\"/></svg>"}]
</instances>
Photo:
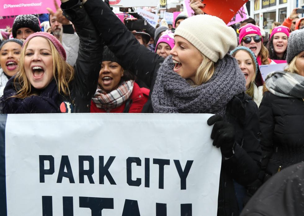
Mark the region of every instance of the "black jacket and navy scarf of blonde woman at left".
<instances>
[{"instance_id":1,"label":"black jacket and navy scarf of blonde woman at left","mask_svg":"<svg viewBox=\"0 0 304 216\"><path fill-rule=\"evenodd\" d=\"M74 79L69 83L70 96L60 95L53 80L36 95L25 99L13 98L18 89L13 78L9 80L1 98L1 112L8 113L53 113L60 112L60 104L68 101L73 112L90 112L91 99L97 89L103 45L83 5L78 1L61 4L65 16L72 21L79 36L78 57L74 65Z\"/></svg>"}]
</instances>

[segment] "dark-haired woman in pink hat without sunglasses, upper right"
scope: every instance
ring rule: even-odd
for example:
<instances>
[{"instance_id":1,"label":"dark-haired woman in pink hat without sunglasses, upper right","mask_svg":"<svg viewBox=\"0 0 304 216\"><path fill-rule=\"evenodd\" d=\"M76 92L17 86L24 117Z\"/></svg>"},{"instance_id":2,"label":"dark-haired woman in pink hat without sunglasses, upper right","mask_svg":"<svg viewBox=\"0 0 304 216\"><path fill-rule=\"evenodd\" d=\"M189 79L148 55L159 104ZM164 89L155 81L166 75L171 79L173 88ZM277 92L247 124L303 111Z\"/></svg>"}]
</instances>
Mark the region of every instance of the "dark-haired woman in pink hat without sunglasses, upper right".
<instances>
[{"instance_id":1,"label":"dark-haired woman in pink hat without sunglasses, upper right","mask_svg":"<svg viewBox=\"0 0 304 216\"><path fill-rule=\"evenodd\" d=\"M276 63L287 63L285 59L289 32L289 28L282 25L272 29L267 49L269 52L269 58Z\"/></svg>"}]
</instances>

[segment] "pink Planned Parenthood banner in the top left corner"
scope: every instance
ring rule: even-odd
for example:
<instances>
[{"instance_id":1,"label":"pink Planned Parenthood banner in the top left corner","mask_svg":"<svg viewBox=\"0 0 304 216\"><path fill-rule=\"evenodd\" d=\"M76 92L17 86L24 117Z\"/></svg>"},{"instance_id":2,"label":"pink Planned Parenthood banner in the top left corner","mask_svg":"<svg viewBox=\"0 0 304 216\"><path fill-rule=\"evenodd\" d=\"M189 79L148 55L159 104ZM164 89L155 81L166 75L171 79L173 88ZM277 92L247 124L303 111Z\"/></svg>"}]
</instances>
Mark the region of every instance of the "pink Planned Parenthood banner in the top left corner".
<instances>
[{"instance_id":1,"label":"pink Planned Parenthood banner in the top left corner","mask_svg":"<svg viewBox=\"0 0 304 216\"><path fill-rule=\"evenodd\" d=\"M58 5L60 0L56 0ZM53 0L1 0L0 16L44 14L48 13L47 7L56 11Z\"/></svg>"}]
</instances>

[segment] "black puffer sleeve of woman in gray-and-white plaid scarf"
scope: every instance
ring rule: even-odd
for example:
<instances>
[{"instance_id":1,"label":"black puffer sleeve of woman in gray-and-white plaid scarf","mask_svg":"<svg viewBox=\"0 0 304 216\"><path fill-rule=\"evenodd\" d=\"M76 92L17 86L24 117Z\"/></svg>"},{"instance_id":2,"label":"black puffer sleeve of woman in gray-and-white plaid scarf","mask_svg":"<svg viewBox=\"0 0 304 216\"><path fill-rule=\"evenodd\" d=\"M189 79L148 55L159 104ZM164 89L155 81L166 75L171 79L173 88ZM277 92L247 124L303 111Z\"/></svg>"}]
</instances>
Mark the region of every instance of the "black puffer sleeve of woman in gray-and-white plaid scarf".
<instances>
[{"instance_id":1,"label":"black puffer sleeve of woman in gray-and-white plaid scarf","mask_svg":"<svg viewBox=\"0 0 304 216\"><path fill-rule=\"evenodd\" d=\"M259 107L262 146L262 166L259 175L261 181L263 181L266 167L273 154L272 139L274 135L275 118L272 111L273 103L271 98L272 94L270 92L265 92Z\"/></svg>"}]
</instances>

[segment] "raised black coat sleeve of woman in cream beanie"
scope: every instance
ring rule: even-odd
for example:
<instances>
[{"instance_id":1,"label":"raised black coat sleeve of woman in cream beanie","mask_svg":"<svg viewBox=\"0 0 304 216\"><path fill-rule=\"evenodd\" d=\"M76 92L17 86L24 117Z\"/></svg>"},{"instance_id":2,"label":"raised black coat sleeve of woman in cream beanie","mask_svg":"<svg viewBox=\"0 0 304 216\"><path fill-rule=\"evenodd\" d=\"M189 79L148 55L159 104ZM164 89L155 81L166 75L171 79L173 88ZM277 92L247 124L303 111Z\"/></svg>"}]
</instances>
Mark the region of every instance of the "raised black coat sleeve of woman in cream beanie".
<instances>
[{"instance_id":1,"label":"raised black coat sleeve of woman in cream beanie","mask_svg":"<svg viewBox=\"0 0 304 216\"><path fill-rule=\"evenodd\" d=\"M151 87L153 74L159 67L157 62L162 57L140 45L134 35L103 1L88 0L84 7L105 45L120 60L123 68L130 70Z\"/></svg>"}]
</instances>

